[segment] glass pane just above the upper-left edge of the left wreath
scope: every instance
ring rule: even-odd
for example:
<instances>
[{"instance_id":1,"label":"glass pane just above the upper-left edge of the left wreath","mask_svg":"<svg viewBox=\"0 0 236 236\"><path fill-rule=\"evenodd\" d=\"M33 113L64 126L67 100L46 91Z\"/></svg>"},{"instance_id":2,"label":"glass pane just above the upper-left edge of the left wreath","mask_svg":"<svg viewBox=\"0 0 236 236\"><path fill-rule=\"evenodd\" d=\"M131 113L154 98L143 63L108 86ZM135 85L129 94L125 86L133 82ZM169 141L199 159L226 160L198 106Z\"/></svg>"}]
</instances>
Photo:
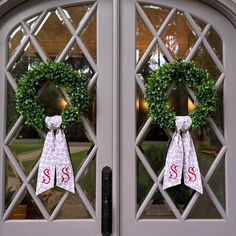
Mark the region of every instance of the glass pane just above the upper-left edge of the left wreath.
<instances>
[{"instance_id":1,"label":"glass pane just above the upper-left edge of the left wreath","mask_svg":"<svg viewBox=\"0 0 236 236\"><path fill-rule=\"evenodd\" d=\"M33 44L29 42L21 52L19 59L10 69L10 72L16 81L18 81L23 74L33 67L34 64L40 62L42 62L42 59L40 58Z\"/></svg>"}]
</instances>

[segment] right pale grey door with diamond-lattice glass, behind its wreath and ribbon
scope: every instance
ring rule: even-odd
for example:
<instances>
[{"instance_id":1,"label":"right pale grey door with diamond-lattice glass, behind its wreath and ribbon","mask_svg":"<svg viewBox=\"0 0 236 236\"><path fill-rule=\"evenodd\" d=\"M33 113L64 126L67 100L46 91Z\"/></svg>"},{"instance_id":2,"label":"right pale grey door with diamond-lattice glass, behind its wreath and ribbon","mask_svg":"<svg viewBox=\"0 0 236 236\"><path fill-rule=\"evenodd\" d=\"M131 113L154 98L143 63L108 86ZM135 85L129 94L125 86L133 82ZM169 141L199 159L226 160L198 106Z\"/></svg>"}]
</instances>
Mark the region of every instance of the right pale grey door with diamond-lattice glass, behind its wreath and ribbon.
<instances>
[{"instance_id":1,"label":"right pale grey door with diamond-lattice glass, behind its wreath and ribbon","mask_svg":"<svg viewBox=\"0 0 236 236\"><path fill-rule=\"evenodd\" d=\"M200 1L121 1L120 235L235 235L235 38L233 25ZM152 124L143 94L149 73L174 59L208 69L218 91L209 124L192 133L203 195L162 189L170 133ZM192 95L175 85L170 106L186 115Z\"/></svg>"}]
</instances>

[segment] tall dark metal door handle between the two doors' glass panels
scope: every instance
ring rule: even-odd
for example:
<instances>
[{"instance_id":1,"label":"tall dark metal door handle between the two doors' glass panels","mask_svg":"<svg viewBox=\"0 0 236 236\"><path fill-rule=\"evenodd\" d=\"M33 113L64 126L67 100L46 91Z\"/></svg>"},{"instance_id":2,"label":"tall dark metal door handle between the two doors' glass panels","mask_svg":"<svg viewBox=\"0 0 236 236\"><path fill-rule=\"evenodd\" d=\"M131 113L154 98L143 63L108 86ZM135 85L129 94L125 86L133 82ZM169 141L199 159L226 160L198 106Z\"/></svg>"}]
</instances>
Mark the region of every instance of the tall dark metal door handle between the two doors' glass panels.
<instances>
[{"instance_id":1,"label":"tall dark metal door handle between the two doors' glass panels","mask_svg":"<svg viewBox=\"0 0 236 236\"><path fill-rule=\"evenodd\" d=\"M112 234L112 170L102 169L102 235Z\"/></svg>"}]
</instances>

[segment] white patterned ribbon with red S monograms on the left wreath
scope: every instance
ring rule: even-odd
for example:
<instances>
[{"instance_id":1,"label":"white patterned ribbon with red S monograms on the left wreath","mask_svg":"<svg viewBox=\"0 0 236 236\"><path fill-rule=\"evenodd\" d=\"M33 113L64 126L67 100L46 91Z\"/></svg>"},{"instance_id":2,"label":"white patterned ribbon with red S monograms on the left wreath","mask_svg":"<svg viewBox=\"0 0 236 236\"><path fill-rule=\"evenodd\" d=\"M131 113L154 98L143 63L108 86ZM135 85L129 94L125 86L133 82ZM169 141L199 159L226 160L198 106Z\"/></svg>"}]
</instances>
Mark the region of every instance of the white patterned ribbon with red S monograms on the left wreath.
<instances>
[{"instance_id":1,"label":"white patterned ribbon with red S monograms on the left wreath","mask_svg":"<svg viewBox=\"0 0 236 236\"><path fill-rule=\"evenodd\" d=\"M56 185L72 193L74 174L64 132L60 129L61 116L46 117L45 123L49 132L46 136L40 158L36 195Z\"/></svg>"}]
</instances>

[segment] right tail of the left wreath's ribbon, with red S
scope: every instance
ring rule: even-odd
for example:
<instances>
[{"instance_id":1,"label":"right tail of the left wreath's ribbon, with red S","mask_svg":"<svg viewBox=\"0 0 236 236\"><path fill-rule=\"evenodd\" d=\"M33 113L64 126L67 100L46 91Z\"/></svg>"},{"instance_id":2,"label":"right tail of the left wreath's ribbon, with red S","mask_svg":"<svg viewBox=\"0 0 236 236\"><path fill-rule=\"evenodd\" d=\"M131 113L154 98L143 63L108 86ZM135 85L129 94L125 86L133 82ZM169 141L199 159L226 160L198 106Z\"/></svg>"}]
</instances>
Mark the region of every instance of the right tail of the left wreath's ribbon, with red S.
<instances>
[{"instance_id":1,"label":"right tail of the left wreath's ribbon, with red S","mask_svg":"<svg viewBox=\"0 0 236 236\"><path fill-rule=\"evenodd\" d=\"M59 130L56 134L56 154L56 185L69 192L75 193L73 168L65 134L62 130Z\"/></svg>"}]
</instances>

